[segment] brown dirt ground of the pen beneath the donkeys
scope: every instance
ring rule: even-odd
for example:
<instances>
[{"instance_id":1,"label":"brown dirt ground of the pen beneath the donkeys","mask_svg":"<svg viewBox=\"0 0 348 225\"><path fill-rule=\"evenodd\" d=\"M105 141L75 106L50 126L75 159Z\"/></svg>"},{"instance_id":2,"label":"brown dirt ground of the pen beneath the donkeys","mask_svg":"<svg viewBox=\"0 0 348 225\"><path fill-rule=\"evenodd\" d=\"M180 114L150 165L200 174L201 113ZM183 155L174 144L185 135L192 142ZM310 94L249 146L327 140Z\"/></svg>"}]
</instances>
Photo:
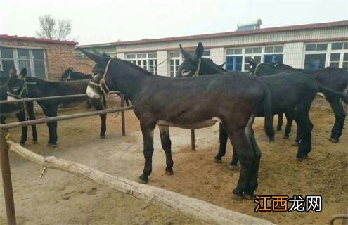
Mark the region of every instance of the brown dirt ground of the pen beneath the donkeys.
<instances>
[{"instance_id":1,"label":"brown dirt ground of the pen beneath the donkeys","mask_svg":"<svg viewBox=\"0 0 348 225\"><path fill-rule=\"evenodd\" d=\"M60 112L60 115L82 112L85 109ZM42 117L43 115L37 115ZM231 144L223 163L213 157L219 146L219 129L196 130L196 151L191 151L190 131L170 128L174 158L174 174L165 175L165 154L155 131L153 174L148 185L199 198L230 210L267 219L276 224L327 224L333 214L343 213L348 203L348 134L340 143L330 143L333 114L330 110L313 108L313 150L309 159L295 160L296 147L290 140L269 143L263 131L263 120L257 119L254 130L262 150L259 168L259 195L322 195L323 212L254 212L256 204L238 201L231 195L239 176L231 171ZM8 122L15 121L14 118ZM26 148L41 155L81 162L103 172L137 181L143 169L143 145L138 120L132 111L126 113L127 135L121 135L120 116L108 115L106 139L100 139L99 117L85 117L58 122L58 147L46 147L48 131L38 125L39 143L31 137ZM295 124L293 131L295 131ZM28 136L31 136L31 131ZM12 129L11 137L20 140L20 129ZM13 188L18 224L200 224L158 205L150 205L111 188L99 186L86 179L49 169L39 178L42 168L10 153ZM2 186L2 184L1 184ZM1 188L1 201L3 198ZM0 224L6 223L4 203L0 203Z\"/></svg>"}]
</instances>

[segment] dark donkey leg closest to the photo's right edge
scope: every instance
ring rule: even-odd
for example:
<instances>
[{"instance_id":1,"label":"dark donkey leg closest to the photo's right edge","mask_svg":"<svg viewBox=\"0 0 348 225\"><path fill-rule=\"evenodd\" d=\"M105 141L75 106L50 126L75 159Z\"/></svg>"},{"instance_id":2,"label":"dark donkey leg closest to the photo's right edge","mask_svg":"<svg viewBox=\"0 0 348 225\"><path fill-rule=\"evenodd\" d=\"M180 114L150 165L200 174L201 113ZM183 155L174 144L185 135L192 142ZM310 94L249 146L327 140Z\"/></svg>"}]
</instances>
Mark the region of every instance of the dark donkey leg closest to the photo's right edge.
<instances>
[{"instance_id":1,"label":"dark donkey leg closest to the photo's right edge","mask_svg":"<svg viewBox=\"0 0 348 225\"><path fill-rule=\"evenodd\" d=\"M344 108L340 103L339 98L331 98L330 106L333 109L333 113L335 114L335 124L333 125L333 129L331 130L330 141L337 143L342 135L344 119L346 117L346 113L344 112Z\"/></svg>"}]
</instances>

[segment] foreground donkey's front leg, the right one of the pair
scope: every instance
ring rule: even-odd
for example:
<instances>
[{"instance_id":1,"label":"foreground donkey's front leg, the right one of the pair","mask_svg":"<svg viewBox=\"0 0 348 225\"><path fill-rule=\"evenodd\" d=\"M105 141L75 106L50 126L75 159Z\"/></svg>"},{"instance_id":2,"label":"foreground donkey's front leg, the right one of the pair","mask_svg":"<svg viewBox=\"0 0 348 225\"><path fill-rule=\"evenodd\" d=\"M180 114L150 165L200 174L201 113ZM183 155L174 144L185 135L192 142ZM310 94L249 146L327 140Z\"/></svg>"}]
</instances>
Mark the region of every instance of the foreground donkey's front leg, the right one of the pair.
<instances>
[{"instance_id":1,"label":"foreground donkey's front leg, the right one of the pair","mask_svg":"<svg viewBox=\"0 0 348 225\"><path fill-rule=\"evenodd\" d=\"M160 128L161 144L163 150L165 150L166 165L165 174L173 174L173 159L172 159L172 141L170 141L169 127L158 126Z\"/></svg>"}]
</instances>

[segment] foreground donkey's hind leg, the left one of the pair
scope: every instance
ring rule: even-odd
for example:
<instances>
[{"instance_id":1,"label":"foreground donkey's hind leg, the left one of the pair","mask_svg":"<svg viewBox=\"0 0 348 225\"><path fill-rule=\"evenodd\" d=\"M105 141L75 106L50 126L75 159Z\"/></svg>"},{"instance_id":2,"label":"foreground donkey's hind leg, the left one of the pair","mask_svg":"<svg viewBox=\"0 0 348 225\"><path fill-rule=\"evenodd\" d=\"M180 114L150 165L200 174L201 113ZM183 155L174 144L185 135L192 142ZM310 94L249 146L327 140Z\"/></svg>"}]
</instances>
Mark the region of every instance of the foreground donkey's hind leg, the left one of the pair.
<instances>
[{"instance_id":1,"label":"foreground donkey's hind leg, the left one of the pair","mask_svg":"<svg viewBox=\"0 0 348 225\"><path fill-rule=\"evenodd\" d=\"M249 198L246 193L247 186L250 183L250 174L254 168L255 155L254 152L248 143L247 136L245 135L245 130L233 130L228 129L228 136L236 146L238 160L240 161L240 176L238 180L238 185L233 190L233 194L238 198L242 197L245 194L245 198Z\"/></svg>"}]
</instances>

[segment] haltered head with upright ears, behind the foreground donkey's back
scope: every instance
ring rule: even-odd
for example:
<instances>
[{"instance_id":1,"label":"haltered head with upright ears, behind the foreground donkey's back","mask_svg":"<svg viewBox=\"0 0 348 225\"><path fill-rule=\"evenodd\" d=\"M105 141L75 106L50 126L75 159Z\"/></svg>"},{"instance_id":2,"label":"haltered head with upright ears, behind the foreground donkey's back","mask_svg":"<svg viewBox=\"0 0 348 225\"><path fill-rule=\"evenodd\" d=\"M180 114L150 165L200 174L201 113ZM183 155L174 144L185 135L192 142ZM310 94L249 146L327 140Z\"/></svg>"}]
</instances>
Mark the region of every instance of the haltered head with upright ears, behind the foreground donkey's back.
<instances>
[{"instance_id":1,"label":"haltered head with upright ears, behind the foreground donkey's back","mask_svg":"<svg viewBox=\"0 0 348 225\"><path fill-rule=\"evenodd\" d=\"M176 77L192 77L196 73L200 72L200 58L202 58L204 53L203 44L201 42L198 43L195 53L193 53L192 56L183 49L181 44L179 46L185 60L179 66Z\"/></svg>"}]
</instances>

